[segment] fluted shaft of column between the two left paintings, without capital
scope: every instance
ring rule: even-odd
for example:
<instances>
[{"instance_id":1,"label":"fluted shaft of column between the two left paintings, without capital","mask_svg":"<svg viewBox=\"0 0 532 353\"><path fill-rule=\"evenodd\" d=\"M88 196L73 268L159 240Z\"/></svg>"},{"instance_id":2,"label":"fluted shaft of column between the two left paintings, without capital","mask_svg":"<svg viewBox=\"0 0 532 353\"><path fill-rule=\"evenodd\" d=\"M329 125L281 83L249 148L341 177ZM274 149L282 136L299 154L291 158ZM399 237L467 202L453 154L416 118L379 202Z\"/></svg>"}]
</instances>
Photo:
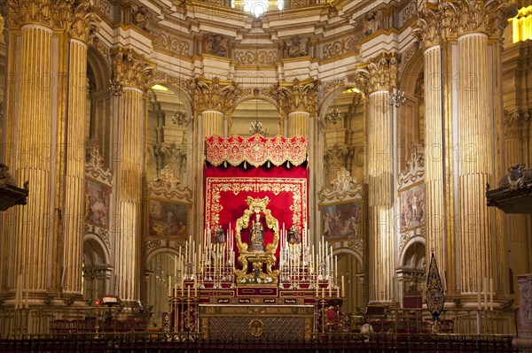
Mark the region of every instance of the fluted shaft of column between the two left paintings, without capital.
<instances>
[{"instance_id":1,"label":"fluted shaft of column between the two left paintings, without capital","mask_svg":"<svg viewBox=\"0 0 532 353\"><path fill-rule=\"evenodd\" d=\"M143 91L124 87L118 97L120 156L117 166L117 211L115 225L117 293L125 302L140 295L139 244L141 237L142 180L144 167L145 111Z\"/></svg>"}]
</instances>

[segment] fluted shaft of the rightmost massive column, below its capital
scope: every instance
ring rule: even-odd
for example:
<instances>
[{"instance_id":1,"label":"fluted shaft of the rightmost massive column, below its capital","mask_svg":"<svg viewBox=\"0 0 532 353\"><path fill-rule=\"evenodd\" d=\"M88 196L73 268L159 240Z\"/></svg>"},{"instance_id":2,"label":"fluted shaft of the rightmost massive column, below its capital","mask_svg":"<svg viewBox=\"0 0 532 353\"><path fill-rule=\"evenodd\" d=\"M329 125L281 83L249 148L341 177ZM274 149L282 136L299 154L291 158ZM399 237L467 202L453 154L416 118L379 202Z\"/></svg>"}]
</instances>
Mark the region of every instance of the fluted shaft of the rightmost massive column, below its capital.
<instances>
[{"instance_id":1,"label":"fluted shaft of the rightmost massive column, below its capital","mask_svg":"<svg viewBox=\"0 0 532 353\"><path fill-rule=\"evenodd\" d=\"M481 291L483 278L493 278L493 210L486 206L485 187L494 172L494 124L489 111L488 35L458 37L458 226L462 294ZM471 78L471 80L468 80ZM473 80L473 81L472 81ZM470 86L472 85L472 86ZM484 288L486 289L486 288Z\"/></svg>"}]
</instances>

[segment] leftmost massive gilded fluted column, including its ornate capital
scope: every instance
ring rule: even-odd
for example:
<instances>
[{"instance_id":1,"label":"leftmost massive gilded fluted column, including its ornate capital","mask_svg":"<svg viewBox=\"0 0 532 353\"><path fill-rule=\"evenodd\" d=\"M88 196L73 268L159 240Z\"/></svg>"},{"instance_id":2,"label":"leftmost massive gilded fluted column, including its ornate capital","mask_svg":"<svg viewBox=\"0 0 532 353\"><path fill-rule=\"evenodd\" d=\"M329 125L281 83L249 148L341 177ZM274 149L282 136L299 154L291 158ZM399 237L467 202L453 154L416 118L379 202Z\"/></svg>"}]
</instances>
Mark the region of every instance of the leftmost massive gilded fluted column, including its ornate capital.
<instances>
[{"instance_id":1,"label":"leftmost massive gilded fluted column, including its ornate capital","mask_svg":"<svg viewBox=\"0 0 532 353\"><path fill-rule=\"evenodd\" d=\"M30 188L27 205L15 207L4 222L10 245L3 248L10 295L20 289L44 294L51 287L53 250L53 173L52 133L52 19L38 8L31 11L29 2L10 2L12 50L10 67L18 73L19 84L8 82L12 105L8 105L8 137L14 151L7 151L16 185L26 181ZM46 2L49 4L50 2ZM45 89L48 88L48 89ZM16 151L16 153L15 153ZM5 261L5 260L4 260ZM19 290L17 288L19 287ZM25 295L26 296L26 295Z\"/></svg>"}]
</instances>

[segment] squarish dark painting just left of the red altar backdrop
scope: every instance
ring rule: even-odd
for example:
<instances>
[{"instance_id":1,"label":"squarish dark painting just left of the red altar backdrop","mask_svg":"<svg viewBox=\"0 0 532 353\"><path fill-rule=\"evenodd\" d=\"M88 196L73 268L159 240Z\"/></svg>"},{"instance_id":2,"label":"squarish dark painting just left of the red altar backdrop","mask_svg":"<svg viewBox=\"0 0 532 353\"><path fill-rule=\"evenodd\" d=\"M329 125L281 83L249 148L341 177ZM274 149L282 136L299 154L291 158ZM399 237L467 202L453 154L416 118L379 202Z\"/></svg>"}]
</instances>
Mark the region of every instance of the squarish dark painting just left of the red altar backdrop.
<instances>
[{"instance_id":1,"label":"squarish dark painting just left of the red altar backdrop","mask_svg":"<svg viewBox=\"0 0 532 353\"><path fill-rule=\"evenodd\" d=\"M188 224L188 207L182 203L168 203L158 199L148 202L150 236L185 239Z\"/></svg>"}]
</instances>

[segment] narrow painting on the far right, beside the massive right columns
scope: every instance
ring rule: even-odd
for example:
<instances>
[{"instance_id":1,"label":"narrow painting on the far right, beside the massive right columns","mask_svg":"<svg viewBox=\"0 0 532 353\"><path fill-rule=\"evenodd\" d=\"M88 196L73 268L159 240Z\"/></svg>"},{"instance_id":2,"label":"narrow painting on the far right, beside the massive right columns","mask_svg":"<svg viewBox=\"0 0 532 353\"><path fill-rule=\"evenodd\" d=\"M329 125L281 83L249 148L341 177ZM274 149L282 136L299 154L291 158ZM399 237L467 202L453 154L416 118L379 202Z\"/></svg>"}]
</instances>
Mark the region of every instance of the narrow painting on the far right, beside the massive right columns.
<instances>
[{"instance_id":1,"label":"narrow painting on the far right, beside the massive right columns","mask_svg":"<svg viewBox=\"0 0 532 353\"><path fill-rule=\"evenodd\" d=\"M401 231L425 224L425 183L400 190Z\"/></svg>"}]
</instances>

